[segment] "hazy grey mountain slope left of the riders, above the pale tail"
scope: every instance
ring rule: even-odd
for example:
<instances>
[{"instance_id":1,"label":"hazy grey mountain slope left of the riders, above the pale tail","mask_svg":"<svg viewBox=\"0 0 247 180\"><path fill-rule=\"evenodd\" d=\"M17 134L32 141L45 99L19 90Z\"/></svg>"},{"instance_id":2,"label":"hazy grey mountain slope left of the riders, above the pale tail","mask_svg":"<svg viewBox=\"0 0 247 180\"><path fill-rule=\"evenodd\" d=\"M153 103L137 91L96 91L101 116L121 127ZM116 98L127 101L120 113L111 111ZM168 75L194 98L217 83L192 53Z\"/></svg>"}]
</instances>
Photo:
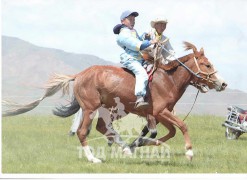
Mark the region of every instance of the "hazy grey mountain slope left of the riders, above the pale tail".
<instances>
[{"instance_id":1,"label":"hazy grey mountain slope left of the riders, above the pale tail","mask_svg":"<svg viewBox=\"0 0 247 180\"><path fill-rule=\"evenodd\" d=\"M3 96L41 87L53 73L75 74L96 64L113 63L93 55L38 47L18 38L2 36Z\"/></svg>"}]
</instances>

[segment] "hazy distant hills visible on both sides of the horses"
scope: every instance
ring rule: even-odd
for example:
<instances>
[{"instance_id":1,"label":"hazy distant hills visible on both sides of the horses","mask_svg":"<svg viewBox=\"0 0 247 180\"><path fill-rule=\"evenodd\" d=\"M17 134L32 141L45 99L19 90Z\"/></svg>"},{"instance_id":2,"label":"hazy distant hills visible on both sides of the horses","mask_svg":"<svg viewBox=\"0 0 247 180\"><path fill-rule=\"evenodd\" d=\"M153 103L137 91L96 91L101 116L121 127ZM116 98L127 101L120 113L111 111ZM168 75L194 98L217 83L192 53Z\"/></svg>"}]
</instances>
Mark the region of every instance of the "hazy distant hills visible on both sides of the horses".
<instances>
[{"instance_id":1,"label":"hazy distant hills visible on both sides of the horses","mask_svg":"<svg viewBox=\"0 0 247 180\"><path fill-rule=\"evenodd\" d=\"M92 65L117 64L93 55L38 47L18 38L2 36L2 97L20 103L33 101L43 95L44 92L39 87L51 74L75 74ZM189 112L195 96L196 89L189 87L177 103L176 112ZM50 112L58 102L59 96L49 98L32 112ZM191 114L223 116L229 105L247 109L247 93L232 89L200 93Z\"/></svg>"}]
</instances>

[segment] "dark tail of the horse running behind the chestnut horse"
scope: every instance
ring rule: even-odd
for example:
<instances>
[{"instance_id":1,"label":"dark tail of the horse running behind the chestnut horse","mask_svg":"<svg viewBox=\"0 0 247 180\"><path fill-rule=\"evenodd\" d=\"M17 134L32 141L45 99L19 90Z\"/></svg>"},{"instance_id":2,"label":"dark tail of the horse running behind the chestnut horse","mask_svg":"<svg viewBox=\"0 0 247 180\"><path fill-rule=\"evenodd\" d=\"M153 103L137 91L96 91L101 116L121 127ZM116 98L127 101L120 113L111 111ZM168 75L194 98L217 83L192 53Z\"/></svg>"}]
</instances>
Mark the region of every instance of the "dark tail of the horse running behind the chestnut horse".
<instances>
[{"instance_id":1,"label":"dark tail of the horse running behind the chestnut horse","mask_svg":"<svg viewBox=\"0 0 247 180\"><path fill-rule=\"evenodd\" d=\"M73 97L73 100L69 105L67 106L62 105L60 107L56 107L56 109L53 110L53 114L65 118L71 116L72 114L75 114L79 109L80 109L80 105L76 100L76 98Z\"/></svg>"}]
</instances>

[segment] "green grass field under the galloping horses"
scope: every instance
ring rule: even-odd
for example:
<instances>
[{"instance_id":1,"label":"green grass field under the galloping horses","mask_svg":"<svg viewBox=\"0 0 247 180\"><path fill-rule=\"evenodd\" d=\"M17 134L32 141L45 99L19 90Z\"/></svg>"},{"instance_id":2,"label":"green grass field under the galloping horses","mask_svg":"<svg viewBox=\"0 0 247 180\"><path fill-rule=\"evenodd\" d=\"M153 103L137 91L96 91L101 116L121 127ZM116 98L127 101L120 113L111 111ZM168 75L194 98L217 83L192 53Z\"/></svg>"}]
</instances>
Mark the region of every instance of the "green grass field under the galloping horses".
<instances>
[{"instance_id":1,"label":"green grass field under the galloping horses","mask_svg":"<svg viewBox=\"0 0 247 180\"><path fill-rule=\"evenodd\" d=\"M191 115L187 118L186 123L194 150L192 162L184 156L184 139L178 129L176 136L166 142L170 147L170 158L160 158L160 154L154 155L151 152L154 147L139 148L134 157L121 158L119 155L118 158L112 158L112 151L117 149L117 146L107 146L103 136L95 130L94 121L93 130L88 137L89 144L95 149L102 147L106 159L102 164L92 164L87 162L83 152L80 157L78 138L67 135L71 118L40 115L3 118L2 172L246 173L247 135L243 134L237 141L226 140L225 129L221 126L223 121L224 117L216 116ZM121 123L138 129L145 124L145 120L130 115L124 121L115 123L118 123L114 125L116 129ZM132 133L137 135L134 130ZM159 125L158 136L166 133L167 130ZM127 135L127 131L122 132L122 135ZM144 158L140 157L141 152L144 152ZM147 158L151 156L154 158Z\"/></svg>"}]
</instances>

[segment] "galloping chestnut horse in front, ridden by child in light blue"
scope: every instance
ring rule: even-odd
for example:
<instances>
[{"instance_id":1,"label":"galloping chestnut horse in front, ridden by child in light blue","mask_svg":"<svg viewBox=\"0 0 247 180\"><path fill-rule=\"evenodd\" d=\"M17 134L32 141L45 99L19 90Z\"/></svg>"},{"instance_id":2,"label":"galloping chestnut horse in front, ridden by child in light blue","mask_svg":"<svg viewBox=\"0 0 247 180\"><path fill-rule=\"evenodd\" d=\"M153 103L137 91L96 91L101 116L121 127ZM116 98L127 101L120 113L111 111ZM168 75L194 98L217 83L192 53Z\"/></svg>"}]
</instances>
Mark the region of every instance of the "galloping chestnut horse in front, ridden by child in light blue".
<instances>
[{"instance_id":1,"label":"galloping chestnut horse in front, ridden by child in light blue","mask_svg":"<svg viewBox=\"0 0 247 180\"><path fill-rule=\"evenodd\" d=\"M116 106L115 97L119 97L124 105L124 111L134 113L142 117L150 115L168 128L169 133L156 141L148 141L148 145L160 145L162 142L175 135L175 127L183 133L185 140L186 157L193 157L192 144L186 124L171 111L176 102L184 94L186 88L193 84L202 91L215 89L222 91L227 84L219 78L213 65L204 55L204 50L185 42L186 50L192 49L193 53L172 61L167 65L158 63L157 70L153 74L153 81L149 86L148 102L146 109L135 109L134 95L135 77L124 68L114 66L92 66L76 75L55 75L47 83L46 92L40 99L24 106L17 106L14 110L3 112L3 116L21 114L35 108L44 98L54 95L59 90L66 93L70 81L74 81L74 99L69 107L57 109L55 114L69 116L76 113L81 107L83 120L77 130L78 138L84 149L87 159L91 162L101 162L94 157L87 143L88 128L92 123L98 108L111 108ZM105 126L102 120L98 121L98 129ZM103 132L102 132L103 133ZM145 145L146 145L145 144Z\"/></svg>"}]
</instances>

